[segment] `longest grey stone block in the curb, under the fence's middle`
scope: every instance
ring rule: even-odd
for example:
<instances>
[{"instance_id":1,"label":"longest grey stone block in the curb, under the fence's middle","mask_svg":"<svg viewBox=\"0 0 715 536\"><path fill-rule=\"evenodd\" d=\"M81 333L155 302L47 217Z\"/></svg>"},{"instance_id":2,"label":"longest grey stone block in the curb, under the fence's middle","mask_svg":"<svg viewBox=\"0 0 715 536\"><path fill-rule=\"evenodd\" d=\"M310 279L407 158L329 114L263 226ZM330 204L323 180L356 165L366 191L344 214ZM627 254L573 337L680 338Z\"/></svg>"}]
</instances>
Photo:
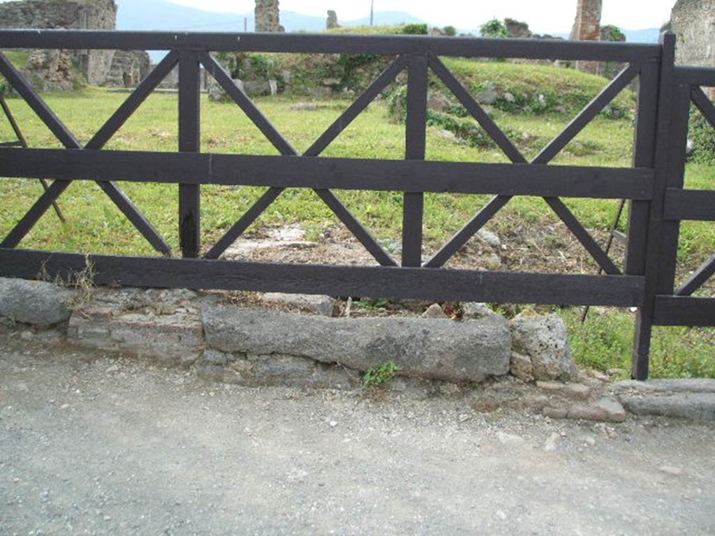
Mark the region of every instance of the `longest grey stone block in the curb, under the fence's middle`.
<instances>
[{"instance_id":1,"label":"longest grey stone block in the curb, under the fence's middle","mask_svg":"<svg viewBox=\"0 0 715 536\"><path fill-rule=\"evenodd\" d=\"M498 316L331 319L205 304L203 322L207 345L222 352L310 357L363 371L394 361L407 376L452 382L507 374L511 357L508 323Z\"/></svg>"}]
</instances>

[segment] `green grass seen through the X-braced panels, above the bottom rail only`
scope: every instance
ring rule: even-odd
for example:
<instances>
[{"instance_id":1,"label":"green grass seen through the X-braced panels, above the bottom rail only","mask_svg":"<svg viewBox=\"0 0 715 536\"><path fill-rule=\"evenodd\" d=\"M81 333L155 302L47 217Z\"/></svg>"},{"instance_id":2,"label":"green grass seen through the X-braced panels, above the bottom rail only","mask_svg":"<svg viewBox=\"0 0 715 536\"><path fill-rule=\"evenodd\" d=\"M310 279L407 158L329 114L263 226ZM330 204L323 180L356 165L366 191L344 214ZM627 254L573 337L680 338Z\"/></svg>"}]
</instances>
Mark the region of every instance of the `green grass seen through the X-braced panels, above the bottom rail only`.
<instances>
[{"instance_id":1,"label":"green grass seen through the X-braced panels, above the bottom rail only","mask_svg":"<svg viewBox=\"0 0 715 536\"><path fill-rule=\"evenodd\" d=\"M126 97L102 89L87 89L81 94L49 94L46 100L69 128L86 142L104 120ZM59 147L48 129L20 99L9 99L19 124L33 147ZM329 101L326 109L292 111L294 101L287 99L259 100L265 114L299 151L307 149L327 126L349 104ZM174 151L177 149L177 97L156 94L149 97L132 119L107 145L107 149L139 149ZM91 110L88 113L88 110ZM231 104L216 104L202 99L202 148L206 152L240 152L246 154L277 154L244 114ZM495 115L500 124L520 133L550 139L566 123L561 116L516 116L500 112ZM11 137L4 125L2 139ZM596 154L578 157L563 154L556 163L584 165L628 165L628 142L632 129L628 121L596 119L593 126L578 137L579 141L601 147ZM533 156L538 147L527 152ZM404 127L387 119L385 106L373 104L346 129L325 151L327 157L358 157L400 159L404 152ZM506 162L496 150L484 151L455 144L438 129L428 131L428 159L463 162ZM137 205L144 210L172 246L177 246L177 187L156 184L122 184ZM4 195L14 199L0 210L0 232L7 232L13 222L30 206L39 194L39 183L26 180L6 180ZM220 236L235 219L261 194L260 188L204 187L202 218L204 242ZM368 225L380 239L400 236L402 196L398 192L340 192L348 207ZM440 241L458 229L488 197L470 195L430 194L425 202L425 237ZM612 217L614 203L573 199L571 207L584 217L589 227L606 226ZM143 239L137 236L124 217L94 184L74 183L61 197L61 206L69 219L66 228L58 232L50 213L24 242L27 247L51 247L59 250L95 251L118 254L151 253ZM541 199L517 199L509 210L527 220L548 217ZM330 210L310 191L288 190L259 220L260 224L302 222L320 229L335 224Z\"/></svg>"}]
</instances>

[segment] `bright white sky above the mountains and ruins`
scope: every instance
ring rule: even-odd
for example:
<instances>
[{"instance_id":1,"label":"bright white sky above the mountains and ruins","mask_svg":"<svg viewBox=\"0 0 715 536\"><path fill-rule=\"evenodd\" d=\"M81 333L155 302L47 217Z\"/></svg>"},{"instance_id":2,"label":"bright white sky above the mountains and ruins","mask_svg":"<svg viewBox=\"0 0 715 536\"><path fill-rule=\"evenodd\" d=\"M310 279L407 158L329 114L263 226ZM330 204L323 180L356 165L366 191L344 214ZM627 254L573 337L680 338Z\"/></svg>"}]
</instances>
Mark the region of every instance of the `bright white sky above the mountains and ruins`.
<instances>
[{"instance_id":1,"label":"bright white sky above the mountains and ruins","mask_svg":"<svg viewBox=\"0 0 715 536\"><path fill-rule=\"evenodd\" d=\"M150 0L149 0L150 1ZM253 0L170 0L211 11L246 13ZM603 0L601 24L625 29L660 27L670 19L675 0ZM370 13L370 0L280 0L281 9L325 16L335 9L338 19L359 19ZM477 28L483 22L511 17L529 24L532 31L569 31L576 16L576 0L375 0L375 11L408 11L436 26L452 24Z\"/></svg>"}]
</instances>

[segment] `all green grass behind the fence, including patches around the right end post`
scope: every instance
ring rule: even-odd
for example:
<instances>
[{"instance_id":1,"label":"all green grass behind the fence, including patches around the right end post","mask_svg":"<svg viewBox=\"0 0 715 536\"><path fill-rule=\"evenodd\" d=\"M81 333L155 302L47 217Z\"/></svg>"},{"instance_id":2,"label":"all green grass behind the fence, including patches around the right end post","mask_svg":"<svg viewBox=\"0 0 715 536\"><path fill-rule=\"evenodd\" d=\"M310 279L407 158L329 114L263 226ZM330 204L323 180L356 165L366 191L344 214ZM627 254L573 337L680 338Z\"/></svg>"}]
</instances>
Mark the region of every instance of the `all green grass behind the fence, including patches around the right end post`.
<instances>
[{"instance_id":1,"label":"all green grass behind the fence, including patches around the right end post","mask_svg":"<svg viewBox=\"0 0 715 536\"><path fill-rule=\"evenodd\" d=\"M455 67L458 67L455 66ZM500 66L503 67L503 66ZM598 91L598 88L595 89ZM48 94L46 101L80 139L87 142L117 109L126 94L87 88L79 94ZM273 97L257 104L299 151L307 149L323 130L350 104L350 101L320 101L317 110L293 110L295 99ZM21 128L32 147L59 147L46 127L21 99L9 99ZM514 141L528 157L533 157L571 119L568 114L509 114L494 112L495 121L521 134ZM154 94L107 145L107 149L175 151L177 149L177 96ZM0 141L12 139L9 125L0 128ZM628 167L631 162L633 128L629 119L599 117L589 125L554 164ZM232 104L217 104L202 97L202 150L243 154L277 154L244 114ZM326 157L401 159L404 126L388 120L386 105L370 106L325 151ZM428 129L428 159L445 161L506 162L495 149L478 149L460 144L438 128ZM435 177L438 180L438 177ZM715 169L691 164L687 168L689 187L714 188ZM177 187L174 185L123 183L122 188L159 229L171 246L178 249ZM202 188L202 239L210 245L233 224L264 189L254 187ZM0 208L0 234L6 234L41 193L37 181L3 179L0 192L6 202ZM402 221L402 194L399 192L337 191L356 217L380 240L399 241ZM425 195L425 249L435 251L488 200L488 197L454 194ZM577 217L599 237L607 231L616 210L616 201L568 199ZM155 253L132 228L112 202L94 184L76 182L60 198L68 223L61 226L51 211L24 239L21 246L71 252L115 254ZM300 222L312 237L339 225L315 194L289 189L272 204L249 232L261 226ZM533 232L536 244L546 249L548 232L562 226L542 199L517 198L490 222L500 235ZM557 241L558 242L558 241ZM715 226L686 223L683 226L679 260L681 277L715 252ZM511 268L511 267L510 267ZM526 267L550 271L550 267ZM595 272L593 262L584 262L582 271ZM598 369L627 367L630 359L632 316L611 310L592 314L581 327L578 309L558 309L566 319L576 358ZM655 376L715 376L715 331L712 329L657 329L654 337Z\"/></svg>"}]
</instances>

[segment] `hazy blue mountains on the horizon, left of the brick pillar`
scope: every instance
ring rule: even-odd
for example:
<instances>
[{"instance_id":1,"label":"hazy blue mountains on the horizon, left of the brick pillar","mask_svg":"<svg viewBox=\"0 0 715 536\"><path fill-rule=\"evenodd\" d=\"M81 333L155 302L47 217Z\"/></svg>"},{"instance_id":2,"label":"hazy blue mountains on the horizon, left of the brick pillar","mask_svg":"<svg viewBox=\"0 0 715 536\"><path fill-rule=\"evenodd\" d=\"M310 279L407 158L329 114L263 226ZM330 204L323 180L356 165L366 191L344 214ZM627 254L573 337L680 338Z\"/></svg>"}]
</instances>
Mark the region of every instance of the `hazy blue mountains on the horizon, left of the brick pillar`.
<instances>
[{"instance_id":1,"label":"hazy blue mountains on the horizon, left of the brick pillar","mask_svg":"<svg viewBox=\"0 0 715 536\"><path fill-rule=\"evenodd\" d=\"M173 4L167 0L117 0L117 29L119 30L185 30L185 31L243 31L247 19L248 31L255 30L253 13L217 13ZM340 16L340 14L338 14ZM281 11L280 23L286 31L325 30L326 16L312 16ZM423 22L404 11L375 13L375 24ZM344 26L370 24L370 17L354 21L340 21Z\"/></svg>"}]
</instances>

